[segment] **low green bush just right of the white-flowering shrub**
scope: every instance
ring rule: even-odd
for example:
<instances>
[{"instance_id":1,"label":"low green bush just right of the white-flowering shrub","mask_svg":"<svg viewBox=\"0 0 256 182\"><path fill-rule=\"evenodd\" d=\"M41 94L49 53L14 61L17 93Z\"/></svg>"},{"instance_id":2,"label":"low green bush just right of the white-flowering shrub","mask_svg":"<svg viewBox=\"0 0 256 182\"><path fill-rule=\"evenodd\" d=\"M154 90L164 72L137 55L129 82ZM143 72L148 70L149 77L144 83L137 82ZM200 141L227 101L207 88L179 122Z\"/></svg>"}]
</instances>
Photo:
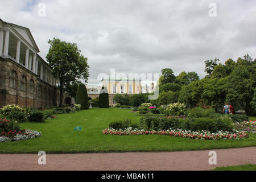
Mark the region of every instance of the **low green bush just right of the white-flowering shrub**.
<instances>
[{"instance_id":1,"label":"low green bush just right of the white-flowering shrub","mask_svg":"<svg viewBox=\"0 0 256 182\"><path fill-rule=\"evenodd\" d=\"M202 107L194 107L185 112L185 115L189 118L201 118L201 117L216 117L218 114L212 108L204 109Z\"/></svg>"}]
</instances>

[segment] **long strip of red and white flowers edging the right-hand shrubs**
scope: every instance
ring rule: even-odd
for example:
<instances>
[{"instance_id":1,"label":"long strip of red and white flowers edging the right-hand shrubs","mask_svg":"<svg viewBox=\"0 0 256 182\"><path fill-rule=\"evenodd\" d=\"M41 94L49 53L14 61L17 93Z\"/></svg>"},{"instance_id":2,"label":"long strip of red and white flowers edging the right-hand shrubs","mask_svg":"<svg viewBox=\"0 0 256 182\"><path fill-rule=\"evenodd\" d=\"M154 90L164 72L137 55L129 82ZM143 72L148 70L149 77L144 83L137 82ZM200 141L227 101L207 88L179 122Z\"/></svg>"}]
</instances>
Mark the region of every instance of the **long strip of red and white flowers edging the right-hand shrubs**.
<instances>
[{"instance_id":1,"label":"long strip of red and white flowers edging the right-hand shrubs","mask_svg":"<svg viewBox=\"0 0 256 182\"><path fill-rule=\"evenodd\" d=\"M191 138L191 139L200 139L200 140L225 140L225 139L244 139L248 138L247 133L242 133L240 131L236 131L234 133L230 133L228 131L218 131L217 133L210 133L209 131L190 131L190 130L132 130L131 127L128 127L125 130L115 130L115 129L104 129L102 130L102 134L105 135L168 135L172 137L183 137L183 138Z\"/></svg>"}]
</instances>

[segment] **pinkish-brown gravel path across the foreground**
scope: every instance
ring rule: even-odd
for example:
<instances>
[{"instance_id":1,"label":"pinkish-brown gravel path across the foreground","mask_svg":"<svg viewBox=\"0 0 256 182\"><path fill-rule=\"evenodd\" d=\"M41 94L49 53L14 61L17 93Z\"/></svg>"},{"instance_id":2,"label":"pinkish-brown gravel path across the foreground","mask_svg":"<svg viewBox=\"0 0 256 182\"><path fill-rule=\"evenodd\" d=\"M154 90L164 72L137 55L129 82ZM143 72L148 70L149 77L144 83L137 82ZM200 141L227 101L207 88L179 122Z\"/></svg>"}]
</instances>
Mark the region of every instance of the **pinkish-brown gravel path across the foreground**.
<instances>
[{"instance_id":1,"label":"pinkish-brown gravel path across the foreground","mask_svg":"<svg viewBox=\"0 0 256 182\"><path fill-rule=\"evenodd\" d=\"M216 165L209 164L209 151L217 152ZM46 165L39 165L38 158L36 154L1 154L0 170L208 170L256 164L256 147L182 152L46 154Z\"/></svg>"}]
</instances>

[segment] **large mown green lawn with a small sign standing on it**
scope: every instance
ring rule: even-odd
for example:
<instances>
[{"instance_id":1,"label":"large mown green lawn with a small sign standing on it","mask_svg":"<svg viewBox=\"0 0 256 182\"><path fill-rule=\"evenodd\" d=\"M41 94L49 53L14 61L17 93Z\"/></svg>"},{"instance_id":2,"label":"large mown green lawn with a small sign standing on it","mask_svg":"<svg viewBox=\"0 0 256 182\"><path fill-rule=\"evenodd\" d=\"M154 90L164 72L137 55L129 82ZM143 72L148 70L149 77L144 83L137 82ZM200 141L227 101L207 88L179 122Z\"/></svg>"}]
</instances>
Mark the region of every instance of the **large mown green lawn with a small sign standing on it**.
<instances>
[{"instance_id":1,"label":"large mown green lawn with a small sign standing on it","mask_svg":"<svg viewBox=\"0 0 256 182\"><path fill-rule=\"evenodd\" d=\"M90 109L71 114L58 114L45 123L21 123L23 129L41 131L43 136L19 142L0 143L0 153L125 152L125 151L185 151L256 146L256 134L243 140L192 140L162 135L102 135L109 123L123 118L138 122L136 113L124 109ZM73 127L82 126L77 133Z\"/></svg>"}]
</instances>

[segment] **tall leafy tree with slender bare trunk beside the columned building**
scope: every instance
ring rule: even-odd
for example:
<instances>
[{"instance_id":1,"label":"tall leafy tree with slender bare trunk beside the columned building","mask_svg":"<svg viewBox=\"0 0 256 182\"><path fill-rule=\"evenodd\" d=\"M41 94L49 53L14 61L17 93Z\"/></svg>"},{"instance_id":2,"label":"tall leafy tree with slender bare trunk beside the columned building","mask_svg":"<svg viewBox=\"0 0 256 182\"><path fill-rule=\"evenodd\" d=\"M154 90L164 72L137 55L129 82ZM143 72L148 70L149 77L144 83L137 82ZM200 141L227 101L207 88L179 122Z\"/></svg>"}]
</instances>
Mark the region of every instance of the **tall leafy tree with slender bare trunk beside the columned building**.
<instances>
[{"instance_id":1,"label":"tall leafy tree with slender bare trunk beside the columned building","mask_svg":"<svg viewBox=\"0 0 256 182\"><path fill-rule=\"evenodd\" d=\"M53 76L60 81L60 107L63 106L64 87L70 82L83 79L87 82L89 77L89 65L87 58L81 55L81 51L75 43L63 42L53 38L49 40L49 52L46 56L49 66L53 69Z\"/></svg>"}]
</instances>

